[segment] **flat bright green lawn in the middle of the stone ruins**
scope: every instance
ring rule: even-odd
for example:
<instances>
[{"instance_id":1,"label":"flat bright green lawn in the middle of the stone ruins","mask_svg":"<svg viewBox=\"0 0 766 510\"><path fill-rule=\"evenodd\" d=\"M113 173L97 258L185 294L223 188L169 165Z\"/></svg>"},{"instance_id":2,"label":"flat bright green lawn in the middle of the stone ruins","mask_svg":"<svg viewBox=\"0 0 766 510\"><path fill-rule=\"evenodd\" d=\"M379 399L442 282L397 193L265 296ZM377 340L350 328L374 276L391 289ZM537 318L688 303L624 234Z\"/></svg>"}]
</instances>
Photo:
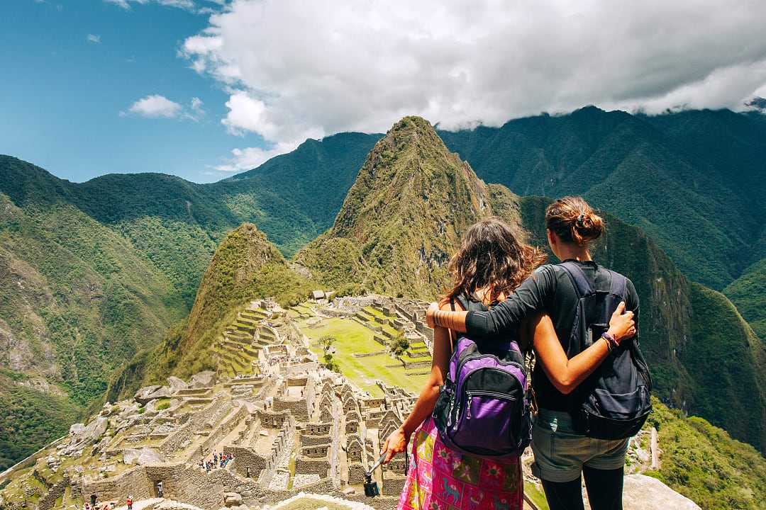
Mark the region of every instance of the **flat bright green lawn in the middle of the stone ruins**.
<instances>
[{"instance_id":1,"label":"flat bright green lawn in the middle of the stone ruins","mask_svg":"<svg viewBox=\"0 0 766 510\"><path fill-rule=\"evenodd\" d=\"M300 321L299 326L301 331L312 339L311 350L319 356L322 356L322 352L316 346L316 340L324 335L335 336L337 339L336 360L341 372L359 388L369 391L372 395L382 396L380 388L375 385L375 379L401 386L413 391L416 395L420 393L426 382L426 375L408 375L404 373L402 366L395 369L387 368L385 365L401 365L401 362L391 359L388 355L354 358L352 355L356 353L385 349L384 346L375 342L371 330L354 320L335 317L323 320L321 327L308 327L305 321Z\"/></svg>"}]
</instances>

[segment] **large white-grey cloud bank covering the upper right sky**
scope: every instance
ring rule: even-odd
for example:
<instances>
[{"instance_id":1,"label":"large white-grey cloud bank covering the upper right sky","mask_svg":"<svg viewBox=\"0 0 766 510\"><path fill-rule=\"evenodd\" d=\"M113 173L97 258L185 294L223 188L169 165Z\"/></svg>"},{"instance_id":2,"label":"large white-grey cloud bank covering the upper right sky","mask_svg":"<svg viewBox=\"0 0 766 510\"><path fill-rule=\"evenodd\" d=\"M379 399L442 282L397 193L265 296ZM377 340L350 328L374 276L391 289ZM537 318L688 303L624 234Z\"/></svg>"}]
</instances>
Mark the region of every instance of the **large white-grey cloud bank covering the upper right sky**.
<instances>
[{"instance_id":1,"label":"large white-grey cloud bank covering the upper right sky","mask_svg":"<svg viewBox=\"0 0 766 510\"><path fill-rule=\"evenodd\" d=\"M410 114L459 128L587 104L740 108L766 84L764 19L766 2L712 0L234 0L181 51L229 90L228 130L276 151Z\"/></svg>"}]
</instances>

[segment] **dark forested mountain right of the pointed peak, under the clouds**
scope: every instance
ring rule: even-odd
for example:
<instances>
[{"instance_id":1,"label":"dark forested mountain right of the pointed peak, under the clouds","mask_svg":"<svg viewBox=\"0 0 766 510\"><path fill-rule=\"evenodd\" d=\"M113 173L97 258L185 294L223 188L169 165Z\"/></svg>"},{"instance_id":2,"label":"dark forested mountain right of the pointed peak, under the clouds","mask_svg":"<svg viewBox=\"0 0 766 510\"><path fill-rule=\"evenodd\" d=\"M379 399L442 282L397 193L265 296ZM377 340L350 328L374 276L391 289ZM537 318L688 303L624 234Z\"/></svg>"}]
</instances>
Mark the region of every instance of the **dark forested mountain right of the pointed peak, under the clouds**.
<instances>
[{"instance_id":1,"label":"dark forested mountain right of the pointed peak, under the clouds","mask_svg":"<svg viewBox=\"0 0 766 510\"><path fill-rule=\"evenodd\" d=\"M630 115L589 106L439 132L486 182L583 195L640 226L695 281L722 289L766 256L766 122L729 110ZM637 192L640 190L640 192Z\"/></svg>"}]
</instances>

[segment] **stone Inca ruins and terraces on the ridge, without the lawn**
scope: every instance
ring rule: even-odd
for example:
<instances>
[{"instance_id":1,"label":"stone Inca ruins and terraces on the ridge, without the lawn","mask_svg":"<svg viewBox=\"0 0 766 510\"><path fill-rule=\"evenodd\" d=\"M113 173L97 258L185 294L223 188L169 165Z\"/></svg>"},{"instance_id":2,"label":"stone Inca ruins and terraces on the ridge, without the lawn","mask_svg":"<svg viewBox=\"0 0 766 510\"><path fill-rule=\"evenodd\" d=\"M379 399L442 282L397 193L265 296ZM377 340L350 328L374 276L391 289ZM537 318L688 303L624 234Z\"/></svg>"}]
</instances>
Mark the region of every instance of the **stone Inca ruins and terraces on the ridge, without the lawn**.
<instances>
[{"instance_id":1,"label":"stone Inca ruins and terraces on the ridge, without the lawn","mask_svg":"<svg viewBox=\"0 0 766 510\"><path fill-rule=\"evenodd\" d=\"M122 504L127 495L212 510L302 492L391 508L404 485L403 458L376 469L381 498L365 499L362 483L414 392L381 380L363 389L323 368L310 335L326 321L351 321L379 346L353 356L381 357L398 365L392 369L423 375L432 339L424 310L412 300L323 292L291 310L254 300L221 332L212 350L216 371L171 377L106 403L90 422L74 424L67 437L9 470L28 473L14 473L5 494L20 491L40 510L91 499ZM394 336L408 339L399 356L388 352ZM228 462L206 465L213 456ZM4 505L28 506L7 497Z\"/></svg>"}]
</instances>

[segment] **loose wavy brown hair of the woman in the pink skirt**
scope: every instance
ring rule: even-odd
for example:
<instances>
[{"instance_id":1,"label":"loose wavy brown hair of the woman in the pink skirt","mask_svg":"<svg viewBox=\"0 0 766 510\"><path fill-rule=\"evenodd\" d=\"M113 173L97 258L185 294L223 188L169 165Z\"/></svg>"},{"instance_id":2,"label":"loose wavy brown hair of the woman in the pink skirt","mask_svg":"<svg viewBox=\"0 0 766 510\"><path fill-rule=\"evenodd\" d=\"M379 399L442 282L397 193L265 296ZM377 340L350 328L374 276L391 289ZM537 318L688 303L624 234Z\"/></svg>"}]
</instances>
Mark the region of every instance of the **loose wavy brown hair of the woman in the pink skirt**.
<instances>
[{"instance_id":1,"label":"loose wavy brown hair of the woman in the pink skirt","mask_svg":"<svg viewBox=\"0 0 766 510\"><path fill-rule=\"evenodd\" d=\"M545 261L545 254L521 242L513 229L497 216L474 223L466 231L460 249L450 258L452 288L447 298L473 294L489 288L489 300L510 294Z\"/></svg>"}]
</instances>

